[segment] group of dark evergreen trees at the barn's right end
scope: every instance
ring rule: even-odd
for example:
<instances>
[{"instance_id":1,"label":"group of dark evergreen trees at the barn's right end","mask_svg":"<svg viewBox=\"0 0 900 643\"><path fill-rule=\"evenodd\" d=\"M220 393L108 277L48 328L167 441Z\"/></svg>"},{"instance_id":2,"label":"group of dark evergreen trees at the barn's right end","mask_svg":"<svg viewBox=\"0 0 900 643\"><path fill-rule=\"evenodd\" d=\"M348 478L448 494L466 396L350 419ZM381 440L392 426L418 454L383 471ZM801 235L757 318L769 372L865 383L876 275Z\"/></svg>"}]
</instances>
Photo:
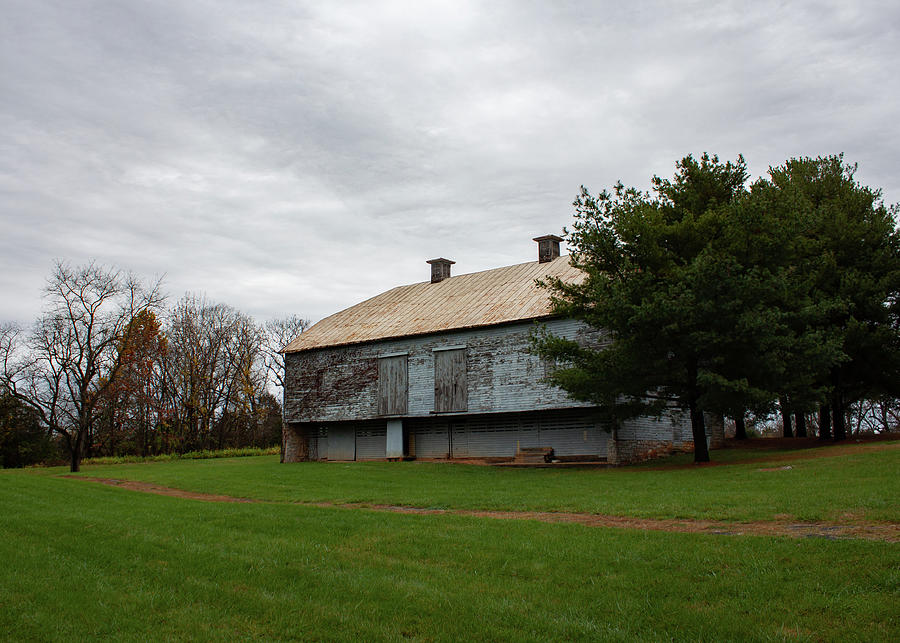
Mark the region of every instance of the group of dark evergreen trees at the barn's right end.
<instances>
[{"instance_id":1,"label":"group of dark evergreen trees at the barn's right end","mask_svg":"<svg viewBox=\"0 0 900 643\"><path fill-rule=\"evenodd\" d=\"M615 427L677 406L695 460L708 414L807 418L844 439L853 418L897 429L898 206L862 185L843 155L795 158L748 185L744 158L676 163L650 191L582 187L565 231L580 283L553 280L555 311L603 329L603 346L537 333L561 364L551 380Z\"/></svg>"}]
</instances>

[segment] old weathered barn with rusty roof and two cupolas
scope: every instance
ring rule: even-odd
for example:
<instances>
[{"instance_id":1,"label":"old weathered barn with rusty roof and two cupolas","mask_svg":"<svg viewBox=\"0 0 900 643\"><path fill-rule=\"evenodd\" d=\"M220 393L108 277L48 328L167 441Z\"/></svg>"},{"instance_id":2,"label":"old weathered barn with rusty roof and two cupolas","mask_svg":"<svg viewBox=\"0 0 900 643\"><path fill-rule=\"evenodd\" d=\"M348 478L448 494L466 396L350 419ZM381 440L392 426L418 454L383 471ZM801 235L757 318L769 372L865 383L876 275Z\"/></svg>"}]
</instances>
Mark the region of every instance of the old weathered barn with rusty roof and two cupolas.
<instances>
[{"instance_id":1,"label":"old weathered barn with rusty roof and two cupolas","mask_svg":"<svg viewBox=\"0 0 900 643\"><path fill-rule=\"evenodd\" d=\"M693 448L672 410L611 431L597 409L545 381L552 364L531 351L535 323L587 344L601 334L553 316L545 277L582 278L557 236L538 259L393 288L331 315L284 349L285 461L514 459L624 463Z\"/></svg>"}]
</instances>

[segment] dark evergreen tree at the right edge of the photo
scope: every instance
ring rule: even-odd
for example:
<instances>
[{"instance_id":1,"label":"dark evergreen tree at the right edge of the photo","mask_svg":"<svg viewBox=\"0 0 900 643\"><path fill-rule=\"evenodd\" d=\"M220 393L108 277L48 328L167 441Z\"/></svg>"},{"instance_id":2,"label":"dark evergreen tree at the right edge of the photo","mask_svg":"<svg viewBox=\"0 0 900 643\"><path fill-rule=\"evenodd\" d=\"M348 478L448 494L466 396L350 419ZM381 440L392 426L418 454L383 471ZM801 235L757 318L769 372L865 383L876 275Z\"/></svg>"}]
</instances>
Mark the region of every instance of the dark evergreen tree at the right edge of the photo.
<instances>
[{"instance_id":1,"label":"dark evergreen tree at the right edge of the photo","mask_svg":"<svg viewBox=\"0 0 900 643\"><path fill-rule=\"evenodd\" d=\"M778 390L796 413L827 402L834 438L845 408L900 395L900 233L897 206L861 185L842 155L791 159L752 190L756 207L791 230L788 270L795 341ZM824 429L827 432L827 427Z\"/></svg>"}]
</instances>

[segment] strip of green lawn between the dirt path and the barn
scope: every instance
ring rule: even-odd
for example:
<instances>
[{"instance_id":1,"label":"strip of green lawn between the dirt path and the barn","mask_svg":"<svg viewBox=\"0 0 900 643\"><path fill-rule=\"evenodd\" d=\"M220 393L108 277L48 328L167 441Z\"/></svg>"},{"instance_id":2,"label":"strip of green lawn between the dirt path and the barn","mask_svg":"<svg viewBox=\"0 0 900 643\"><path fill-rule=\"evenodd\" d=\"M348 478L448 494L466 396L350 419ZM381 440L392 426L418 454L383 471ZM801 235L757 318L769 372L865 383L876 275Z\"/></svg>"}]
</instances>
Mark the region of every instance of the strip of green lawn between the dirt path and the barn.
<instances>
[{"instance_id":1,"label":"strip of green lawn between the dirt path and the barn","mask_svg":"<svg viewBox=\"0 0 900 643\"><path fill-rule=\"evenodd\" d=\"M731 521L900 520L900 443L888 450L717 467L509 469L424 462L279 465L275 456L84 467L81 475L143 480L245 498L453 509L579 511ZM721 451L719 461L781 453ZM689 457L689 456L688 456ZM660 463L654 463L659 466ZM790 469L781 469L789 465ZM761 469L776 467L776 471ZM836 502L836 498L839 501Z\"/></svg>"}]
</instances>

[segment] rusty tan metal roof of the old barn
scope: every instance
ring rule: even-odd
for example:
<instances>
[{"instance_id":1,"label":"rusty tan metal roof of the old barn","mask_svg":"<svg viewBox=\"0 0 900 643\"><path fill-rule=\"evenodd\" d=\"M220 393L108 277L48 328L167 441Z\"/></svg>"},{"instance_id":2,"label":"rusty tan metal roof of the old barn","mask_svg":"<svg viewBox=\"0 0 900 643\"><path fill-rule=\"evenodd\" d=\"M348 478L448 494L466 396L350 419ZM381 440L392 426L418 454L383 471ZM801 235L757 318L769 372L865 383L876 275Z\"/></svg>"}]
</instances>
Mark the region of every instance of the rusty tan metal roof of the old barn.
<instances>
[{"instance_id":1,"label":"rusty tan metal roof of the old barn","mask_svg":"<svg viewBox=\"0 0 900 643\"><path fill-rule=\"evenodd\" d=\"M574 282L584 275L559 257L399 286L326 317L284 352L547 317L550 296L535 280L548 276Z\"/></svg>"}]
</instances>

